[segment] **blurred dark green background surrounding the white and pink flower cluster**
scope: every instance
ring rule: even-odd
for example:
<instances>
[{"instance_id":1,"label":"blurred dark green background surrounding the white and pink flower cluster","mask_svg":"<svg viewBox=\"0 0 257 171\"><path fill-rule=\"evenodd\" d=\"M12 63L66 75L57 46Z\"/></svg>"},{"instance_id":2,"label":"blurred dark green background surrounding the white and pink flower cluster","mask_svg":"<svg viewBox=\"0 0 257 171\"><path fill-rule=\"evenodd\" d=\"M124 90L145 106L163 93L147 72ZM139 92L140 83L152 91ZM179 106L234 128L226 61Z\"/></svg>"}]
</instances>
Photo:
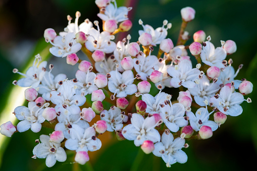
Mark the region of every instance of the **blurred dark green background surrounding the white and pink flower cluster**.
<instances>
[{"instance_id":1,"label":"blurred dark green background surrounding the white and pink flower cluster","mask_svg":"<svg viewBox=\"0 0 257 171\"><path fill-rule=\"evenodd\" d=\"M180 10L190 6L195 9L195 19L188 24L187 31L192 35L195 31L204 30L211 35L215 46L220 46L220 40L234 40L237 44L236 53L232 58L235 69L244 64L237 79L246 78L254 87L257 85L257 1L254 0L217 0L217 1L180 1L180 0L131 0L119 1L118 6L133 4L129 17L133 21L130 31L132 41L137 41L138 20L153 28L161 27L163 20L172 23L168 37L176 43L181 24ZM5 105L7 95L13 88L12 81L17 79L12 73L13 68L25 68L30 56L42 51L47 44L42 36L46 28L54 28L57 32L67 26L67 15L75 18L76 11L81 12L79 23L88 18L98 20L98 8L94 1L78 0L2 0L0 1L0 102ZM124 34L123 34L124 35ZM124 36L126 36L125 34ZM123 38L120 36L120 38ZM187 42L192 42L192 38ZM153 51L153 53L157 52ZM47 53L44 53L46 57ZM74 77L75 71L65 64L65 59L52 58L53 63L64 61L65 67L55 72L69 73ZM166 91L168 91L166 89ZM173 94L171 90L170 93ZM45 159L32 159L32 149L35 139L41 134L49 134L52 130L43 128L40 133L16 133L1 147L0 170L242 170L246 166L255 168L257 159L257 113L255 110L257 93L254 89L249 97L252 103L243 102L243 113L238 117L228 117L226 123L214 132L208 140L190 140L189 148L183 149L188 155L185 164L175 163L171 168L160 157L153 154L143 154L135 147L133 141L118 142L114 134L107 134L111 141L102 140L102 149L90 152L90 162L81 166L71 164L74 153L68 152L69 160L57 162L52 168L45 166ZM15 98L15 97L14 97ZM3 113L2 115L12 115ZM5 121L7 122L7 121ZM0 123L3 124L3 123ZM2 135L1 135L2 136ZM102 139L104 135L100 135ZM106 142L106 143L105 143ZM4 150L5 149L5 150Z\"/></svg>"}]
</instances>

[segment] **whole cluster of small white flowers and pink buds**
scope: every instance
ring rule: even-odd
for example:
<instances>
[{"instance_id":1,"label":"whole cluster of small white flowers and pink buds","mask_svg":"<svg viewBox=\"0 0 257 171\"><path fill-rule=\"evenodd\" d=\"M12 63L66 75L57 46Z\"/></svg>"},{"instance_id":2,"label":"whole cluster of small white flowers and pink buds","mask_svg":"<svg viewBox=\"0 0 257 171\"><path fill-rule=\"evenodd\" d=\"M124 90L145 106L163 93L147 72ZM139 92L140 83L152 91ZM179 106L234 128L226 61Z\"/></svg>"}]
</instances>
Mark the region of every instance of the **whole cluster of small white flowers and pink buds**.
<instances>
[{"instance_id":1,"label":"whole cluster of small white flowers and pink buds","mask_svg":"<svg viewBox=\"0 0 257 171\"><path fill-rule=\"evenodd\" d=\"M185 45L189 39L185 28L194 19L194 9L181 10L182 26L174 46L167 38L172 27L167 20L156 29L139 20L142 30L137 42L131 42L129 34L114 42L115 35L132 27L128 19L132 8L117 7L110 0L96 0L95 4L102 27L88 19L78 24L81 14L77 12L74 23L67 17L68 26L59 35L52 28L44 31L45 41L53 45L50 53L66 57L69 65L79 63L75 78L62 73L54 76L54 66L47 67L39 54L25 74L13 70L24 76L13 84L28 87L28 105L15 108L20 122L1 125L1 134L11 137L29 129L37 133L41 127L54 128L49 136L41 135L35 141L32 158L46 158L46 166L52 167L56 160L66 161L66 150L73 150L75 162L85 164L88 151L101 148L97 137L109 131L118 140L133 140L146 154L162 157L170 167L187 161L182 150L189 146L187 140L212 137L227 116L243 112L243 101L251 102L244 96L251 93L252 83L235 78L242 65L235 72L232 59L226 60L236 51L234 41L221 41L215 48L211 36L206 38L199 30L193 34L194 42ZM89 61L79 58L79 50ZM175 99L170 94L174 88L180 90ZM100 120L93 123L96 115Z\"/></svg>"}]
</instances>

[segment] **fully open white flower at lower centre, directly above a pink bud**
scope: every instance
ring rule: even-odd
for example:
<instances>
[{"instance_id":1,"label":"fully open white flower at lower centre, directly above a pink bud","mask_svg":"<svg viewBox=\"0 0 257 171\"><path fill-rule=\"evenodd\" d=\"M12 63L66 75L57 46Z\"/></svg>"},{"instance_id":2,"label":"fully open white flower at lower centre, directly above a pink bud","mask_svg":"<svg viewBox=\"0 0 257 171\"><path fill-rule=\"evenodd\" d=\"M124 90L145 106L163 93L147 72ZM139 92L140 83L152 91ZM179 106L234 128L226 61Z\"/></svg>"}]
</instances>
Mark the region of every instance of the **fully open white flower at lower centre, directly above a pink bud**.
<instances>
[{"instance_id":1,"label":"fully open white flower at lower centre, directly above a pink bud","mask_svg":"<svg viewBox=\"0 0 257 171\"><path fill-rule=\"evenodd\" d=\"M133 113L131 124L125 126L122 130L122 135L127 140L134 140L135 146L141 145L145 140L150 140L156 143L161 140L159 132L155 129L157 126L155 117L147 117Z\"/></svg>"}]
</instances>

